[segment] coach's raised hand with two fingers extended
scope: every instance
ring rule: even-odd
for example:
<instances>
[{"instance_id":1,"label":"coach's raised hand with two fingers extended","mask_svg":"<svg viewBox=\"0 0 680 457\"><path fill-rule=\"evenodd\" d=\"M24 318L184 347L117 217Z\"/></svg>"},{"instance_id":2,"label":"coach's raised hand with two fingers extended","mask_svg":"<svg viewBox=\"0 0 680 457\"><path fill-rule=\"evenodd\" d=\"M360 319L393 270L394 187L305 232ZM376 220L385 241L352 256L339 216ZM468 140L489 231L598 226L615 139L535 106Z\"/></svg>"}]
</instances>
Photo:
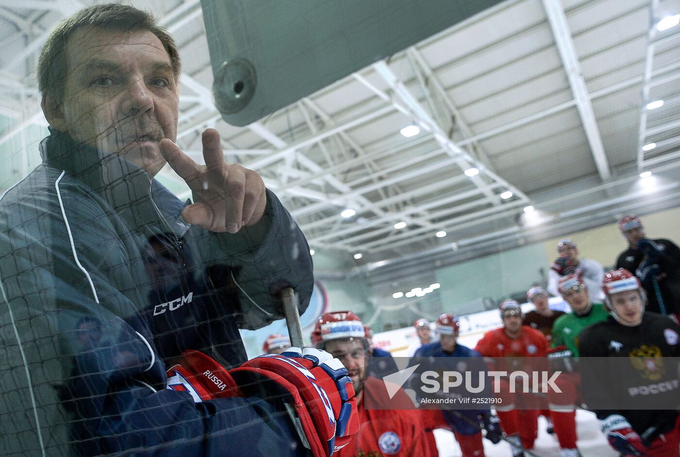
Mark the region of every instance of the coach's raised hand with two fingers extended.
<instances>
[{"instance_id":1,"label":"coach's raised hand with two fingers extended","mask_svg":"<svg viewBox=\"0 0 680 457\"><path fill-rule=\"evenodd\" d=\"M205 165L199 165L171 140L160 140L160 152L188 184L194 203L182 211L189 224L212 232L237 233L265 214L267 194L255 171L224 161L220 133L207 129L201 137Z\"/></svg>"}]
</instances>

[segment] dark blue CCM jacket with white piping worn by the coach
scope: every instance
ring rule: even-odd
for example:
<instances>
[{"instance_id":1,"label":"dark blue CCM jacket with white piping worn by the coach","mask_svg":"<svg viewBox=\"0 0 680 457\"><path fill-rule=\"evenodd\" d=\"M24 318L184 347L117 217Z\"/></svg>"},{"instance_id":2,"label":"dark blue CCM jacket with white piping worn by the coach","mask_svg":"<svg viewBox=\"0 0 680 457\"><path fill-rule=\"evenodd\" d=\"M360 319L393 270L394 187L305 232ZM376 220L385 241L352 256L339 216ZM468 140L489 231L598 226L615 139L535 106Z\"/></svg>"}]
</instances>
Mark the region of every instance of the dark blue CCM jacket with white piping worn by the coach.
<instances>
[{"instance_id":1,"label":"dark blue CCM jacket with white piping worn by the coach","mask_svg":"<svg viewBox=\"0 0 680 457\"><path fill-rule=\"evenodd\" d=\"M41 154L0 200L0 455L301 454L282 405L165 389L186 349L245 361L238 328L282 318L282 288L307 307L309 248L275 195L210 233L119 156L57 132Z\"/></svg>"}]
</instances>

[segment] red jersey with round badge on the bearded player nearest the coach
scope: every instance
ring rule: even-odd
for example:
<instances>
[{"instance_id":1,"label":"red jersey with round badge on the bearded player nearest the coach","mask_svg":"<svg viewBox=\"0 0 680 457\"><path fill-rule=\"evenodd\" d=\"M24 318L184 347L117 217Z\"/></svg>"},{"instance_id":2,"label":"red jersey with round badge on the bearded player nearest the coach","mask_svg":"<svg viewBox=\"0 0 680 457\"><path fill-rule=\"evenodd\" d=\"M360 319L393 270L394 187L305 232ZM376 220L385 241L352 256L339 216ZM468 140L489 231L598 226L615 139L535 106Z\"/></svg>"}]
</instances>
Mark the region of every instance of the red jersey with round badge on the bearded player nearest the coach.
<instances>
[{"instance_id":1,"label":"red jersey with round badge on the bearded player nearest the coach","mask_svg":"<svg viewBox=\"0 0 680 457\"><path fill-rule=\"evenodd\" d=\"M367 390L374 394L386 394L381 379L367 377ZM413 405L403 390L394 397L403 395L404 401ZM388 398L388 397L386 397ZM398 400L398 399L397 399ZM359 432L333 457L430 457L426 445L425 424L422 412L417 409L365 409L363 399L358 405Z\"/></svg>"}]
</instances>

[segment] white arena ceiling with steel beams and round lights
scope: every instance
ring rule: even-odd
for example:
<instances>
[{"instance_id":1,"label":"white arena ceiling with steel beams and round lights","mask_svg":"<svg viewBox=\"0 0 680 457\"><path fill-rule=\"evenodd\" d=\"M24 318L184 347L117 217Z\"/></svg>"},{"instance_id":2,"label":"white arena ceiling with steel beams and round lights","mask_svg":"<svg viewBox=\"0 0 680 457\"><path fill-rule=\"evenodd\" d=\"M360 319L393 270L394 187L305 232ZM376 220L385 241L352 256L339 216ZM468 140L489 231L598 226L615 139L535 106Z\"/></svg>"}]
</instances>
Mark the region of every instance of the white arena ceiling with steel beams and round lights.
<instances>
[{"instance_id":1,"label":"white arena ceiling with steel beams and round lights","mask_svg":"<svg viewBox=\"0 0 680 457\"><path fill-rule=\"evenodd\" d=\"M184 151L201 161L201 131L218 129L226 160L265 178L313 250L362 254L358 268L678 204L680 0L507 0L245 127L213 105L200 2L126 3L180 45ZM0 0L0 147L46 125L37 52L89 4ZM168 167L160 179L190 196Z\"/></svg>"}]
</instances>

